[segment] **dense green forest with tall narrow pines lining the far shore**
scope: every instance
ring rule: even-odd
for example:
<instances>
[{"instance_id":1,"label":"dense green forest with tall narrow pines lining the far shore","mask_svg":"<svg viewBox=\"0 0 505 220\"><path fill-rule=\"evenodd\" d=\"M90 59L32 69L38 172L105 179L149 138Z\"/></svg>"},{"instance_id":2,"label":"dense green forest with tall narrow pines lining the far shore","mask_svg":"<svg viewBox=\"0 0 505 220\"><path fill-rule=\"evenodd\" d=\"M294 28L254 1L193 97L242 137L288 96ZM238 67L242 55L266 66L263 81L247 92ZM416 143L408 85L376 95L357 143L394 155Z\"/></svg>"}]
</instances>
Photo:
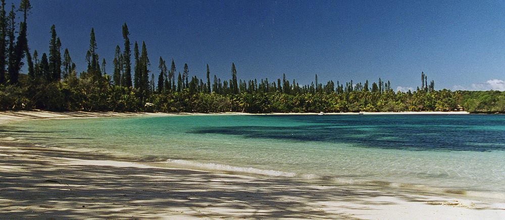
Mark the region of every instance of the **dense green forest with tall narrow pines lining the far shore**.
<instances>
[{"instance_id":1,"label":"dense green forest with tall narrow pines lining the far shore","mask_svg":"<svg viewBox=\"0 0 505 220\"><path fill-rule=\"evenodd\" d=\"M87 61L86 71L77 73L68 49L62 49L55 25L50 28L48 52L42 52L40 57L37 50L31 53L27 39L29 0L22 0L17 10L12 5L9 13L5 0L0 2L0 110L505 112L505 92L437 91L435 83L428 82L424 72L421 72L421 86L415 91L394 92L391 83L382 79L323 84L316 75L310 85L299 85L295 80L287 80L285 75L276 80L241 80L237 79L234 63L231 64L229 80L221 80L216 75L211 77L209 65L205 79L190 77L186 63L181 74L174 60L167 65L162 57L154 70L145 43L139 46L136 41L130 42L126 23L122 26L122 47L116 46L112 60L114 72L106 72L106 59L100 60L97 54L91 28L89 49L83 56ZM16 23L16 13L22 14L19 24ZM26 73L20 72L23 67L27 69Z\"/></svg>"}]
</instances>

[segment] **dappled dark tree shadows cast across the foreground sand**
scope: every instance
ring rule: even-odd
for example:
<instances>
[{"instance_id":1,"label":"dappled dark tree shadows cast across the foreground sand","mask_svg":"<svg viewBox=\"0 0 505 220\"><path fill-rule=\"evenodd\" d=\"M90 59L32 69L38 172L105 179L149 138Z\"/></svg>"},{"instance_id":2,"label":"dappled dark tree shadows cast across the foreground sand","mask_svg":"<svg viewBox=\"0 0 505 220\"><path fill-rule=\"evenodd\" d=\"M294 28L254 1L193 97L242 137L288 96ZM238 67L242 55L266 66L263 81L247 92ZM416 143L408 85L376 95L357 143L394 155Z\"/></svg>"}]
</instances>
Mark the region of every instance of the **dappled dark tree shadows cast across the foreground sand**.
<instances>
[{"instance_id":1,"label":"dappled dark tree shadows cast across the foreground sand","mask_svg":"<svg viewBox=\"0 0 505 220\"><path fill-rule=\"evenodd\" d=\"M324 182L308 184L293 178L80 165L69 161L83 159L83 153L10 145L0 149L2 219L143 219L180 214L195 218L356 219L359 216L328 211L321 202L371 209L373 202L394 204L373 200L381 196L424 201L422 196L412 194L323 185ZM85 154L86 160L104 158L127 160ZM345 202L358 206L345 206Z\"/></svg>"}]
</instances>

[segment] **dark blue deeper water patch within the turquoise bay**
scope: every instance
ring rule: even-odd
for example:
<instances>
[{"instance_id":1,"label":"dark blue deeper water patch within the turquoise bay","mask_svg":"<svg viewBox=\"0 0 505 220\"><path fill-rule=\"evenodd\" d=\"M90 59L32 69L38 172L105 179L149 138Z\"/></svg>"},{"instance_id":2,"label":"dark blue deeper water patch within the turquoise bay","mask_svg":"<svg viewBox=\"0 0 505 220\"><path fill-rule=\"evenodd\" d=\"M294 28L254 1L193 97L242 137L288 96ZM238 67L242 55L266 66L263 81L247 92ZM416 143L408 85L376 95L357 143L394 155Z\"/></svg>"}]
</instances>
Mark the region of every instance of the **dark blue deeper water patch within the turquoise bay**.
<instances>
[{"instance_id":1,"label":"dark blue deeper water patch within the turquoise bay","mask_svg":"<svg viewBox=\"0 0 505 220\"><path fill-rule=\"evenodd\" d=\"M298 126L218 126L192 133L248 138L355 143L413 151L503 151L504 115L278 115L252 116L310 122Z\"/></svg>"}]
</instances>

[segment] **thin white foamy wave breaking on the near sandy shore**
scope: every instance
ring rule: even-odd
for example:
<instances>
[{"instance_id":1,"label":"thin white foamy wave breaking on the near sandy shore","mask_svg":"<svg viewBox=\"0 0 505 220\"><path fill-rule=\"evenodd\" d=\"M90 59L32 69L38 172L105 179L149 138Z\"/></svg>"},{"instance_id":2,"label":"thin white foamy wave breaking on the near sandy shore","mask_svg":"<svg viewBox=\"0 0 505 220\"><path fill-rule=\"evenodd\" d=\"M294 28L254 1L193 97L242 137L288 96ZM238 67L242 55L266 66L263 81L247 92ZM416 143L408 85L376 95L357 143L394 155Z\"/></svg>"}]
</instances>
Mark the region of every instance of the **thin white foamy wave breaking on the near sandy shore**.
<instances>
[{"instance_id":1,"label":"thin white foamy wave breaking on the near sandy shore","mask_svg":"<svg viewBox=\"0 0 505 220\"><path fill-rule=\"evenodd\" d=\"M260 174L266 176L276 176L276 177L294 177L296 173L291 172L283 172L277 170L262 170L252 167L234 167L223 164L214 164L214 163L200 163L186 160L178 160L178 159L168 159L166 161L167 164L185 166L196 169L204 169L204 170L217 170L217 171L226 171L226 172L240 172L240 173L249 173L249 174Z\"/></svg>"}]
</instances>

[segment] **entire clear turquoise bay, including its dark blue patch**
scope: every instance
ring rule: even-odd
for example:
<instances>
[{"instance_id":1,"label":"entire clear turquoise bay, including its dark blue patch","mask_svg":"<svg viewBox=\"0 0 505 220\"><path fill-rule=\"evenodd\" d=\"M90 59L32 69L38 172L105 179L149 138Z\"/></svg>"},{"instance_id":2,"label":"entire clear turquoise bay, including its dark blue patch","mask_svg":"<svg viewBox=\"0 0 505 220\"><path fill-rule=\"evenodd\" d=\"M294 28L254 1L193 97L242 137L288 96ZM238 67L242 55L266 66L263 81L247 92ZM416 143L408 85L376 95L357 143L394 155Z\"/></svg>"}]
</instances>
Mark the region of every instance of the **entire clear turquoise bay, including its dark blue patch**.
<instances>
[{"instance_id":1,"label":"entire clear turquoise bay, including its dark blue patch","mask_svg":"<svg viewBox=\"0 0 505 220\"><path fill-rule=\"evenodd\" d=\"M2 137L177 167L505 193L503 115L258 115L33 120Z\"/></svg>"}]
</instances>

